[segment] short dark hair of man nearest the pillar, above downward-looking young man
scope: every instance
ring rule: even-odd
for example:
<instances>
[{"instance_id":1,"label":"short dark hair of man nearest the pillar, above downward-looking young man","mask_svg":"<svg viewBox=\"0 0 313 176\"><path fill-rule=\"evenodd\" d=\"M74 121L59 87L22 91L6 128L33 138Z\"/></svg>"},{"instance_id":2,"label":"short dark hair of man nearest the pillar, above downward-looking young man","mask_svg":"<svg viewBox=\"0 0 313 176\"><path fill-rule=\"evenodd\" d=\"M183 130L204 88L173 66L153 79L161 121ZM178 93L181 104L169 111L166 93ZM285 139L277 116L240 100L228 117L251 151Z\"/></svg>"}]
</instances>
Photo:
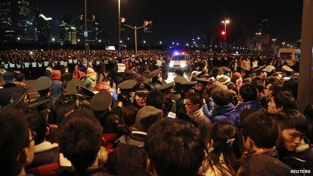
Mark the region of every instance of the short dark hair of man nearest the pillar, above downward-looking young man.
<instances>
[{"instance_id":1,"label":"short dark hair of man nearest the pillar, above downward-looking young man","mask_svg":"<svg viewBox=\"0 0 313 176\"><path fill-rule=\"evenodd\" d=\"M276 91L272 94L272 97L277 108L297 109L295 99L288 91Z\"/></svg>"}]
</instances>

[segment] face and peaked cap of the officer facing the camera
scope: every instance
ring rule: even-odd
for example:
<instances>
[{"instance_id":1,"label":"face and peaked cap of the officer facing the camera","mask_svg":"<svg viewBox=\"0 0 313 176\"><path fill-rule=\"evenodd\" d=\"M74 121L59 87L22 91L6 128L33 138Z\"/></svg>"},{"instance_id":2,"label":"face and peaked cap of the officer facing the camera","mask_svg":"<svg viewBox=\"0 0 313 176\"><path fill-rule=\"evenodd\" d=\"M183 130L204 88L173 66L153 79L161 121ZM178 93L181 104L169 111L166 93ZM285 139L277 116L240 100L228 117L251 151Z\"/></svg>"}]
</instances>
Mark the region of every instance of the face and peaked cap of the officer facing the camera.
<instances>
[{"instance_id":1,"label":"face and peaked cap of the officer facing the camera","mask_svg":"<svg viewBox=\"0 0 313 176\"><path fill-rule=\"evenodd\" d=\"M138 109L141 109L146 104L146 96L152 90L151 86L147 83L137 83L133 86L132 92L135 93L135 100L132 105Z\"/></svg>"}]
</instances>

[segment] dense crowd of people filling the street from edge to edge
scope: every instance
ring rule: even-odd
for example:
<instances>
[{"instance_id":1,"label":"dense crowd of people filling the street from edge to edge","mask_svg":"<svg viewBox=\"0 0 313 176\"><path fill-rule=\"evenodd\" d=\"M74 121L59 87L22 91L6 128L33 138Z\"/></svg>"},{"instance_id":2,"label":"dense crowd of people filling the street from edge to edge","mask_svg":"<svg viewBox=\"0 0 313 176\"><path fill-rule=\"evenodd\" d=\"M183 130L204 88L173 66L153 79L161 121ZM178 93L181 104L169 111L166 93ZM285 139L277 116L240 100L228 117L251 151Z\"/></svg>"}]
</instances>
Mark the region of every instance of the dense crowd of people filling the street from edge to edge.
<instances>
[{"instance_id":1,"label":"dense crowd of people filling the street from edge to edge","mask_svg":"<svg viewBox=\"0 0 313 176\"><path fill-rule=\"evenodd\" d=\"M1 175L312 175L296 66L187 53L169 82L170 51L2 51Z\"/></svg>"}]
</instances>

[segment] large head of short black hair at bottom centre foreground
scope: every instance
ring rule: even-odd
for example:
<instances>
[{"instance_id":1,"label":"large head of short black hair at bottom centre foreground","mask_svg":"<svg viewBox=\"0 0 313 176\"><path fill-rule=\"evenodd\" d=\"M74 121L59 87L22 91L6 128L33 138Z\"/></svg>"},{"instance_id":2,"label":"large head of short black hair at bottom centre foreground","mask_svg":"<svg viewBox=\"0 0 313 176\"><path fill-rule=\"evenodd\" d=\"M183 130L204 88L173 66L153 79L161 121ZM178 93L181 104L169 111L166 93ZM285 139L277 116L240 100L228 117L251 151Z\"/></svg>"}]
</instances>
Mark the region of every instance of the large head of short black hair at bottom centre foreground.
<instances>
[{"instance_id":1,"label":"large head of short black hair at bottom centre foreground","mask_svg":"<svg viewBox=\"0 0 313 176\"><path fill-rule=\"evenodd\" d=\"M199 129L184 120L170 118L149 128L144 147L160 176L196 175L205 149Z\"/></svg>"}]
</instances>

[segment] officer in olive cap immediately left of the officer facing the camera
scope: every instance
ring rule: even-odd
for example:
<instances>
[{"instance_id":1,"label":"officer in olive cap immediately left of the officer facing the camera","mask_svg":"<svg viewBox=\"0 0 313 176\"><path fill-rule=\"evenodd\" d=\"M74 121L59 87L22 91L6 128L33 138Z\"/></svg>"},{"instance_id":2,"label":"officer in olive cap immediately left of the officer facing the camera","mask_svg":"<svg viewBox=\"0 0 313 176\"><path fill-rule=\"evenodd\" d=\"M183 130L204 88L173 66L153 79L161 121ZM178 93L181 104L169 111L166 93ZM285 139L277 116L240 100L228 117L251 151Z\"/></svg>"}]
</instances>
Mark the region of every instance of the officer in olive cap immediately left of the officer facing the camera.
<instances>
[{"instance_id":1,"label":"officer in olive cap immediately left of the officer facing the camera","mask_svg":"<svg viewBox=\"0 0 313 176\"><path fill-rule=\"evenodd\" d=\"M117 85L120 94L117 95L117 101L112 105L112 111L117 112L120 117L122 115L121 108L132 105L132 101L130 100L131 89L136 84L137 81L129 79Z\"/></svg>"}]
</instances>

